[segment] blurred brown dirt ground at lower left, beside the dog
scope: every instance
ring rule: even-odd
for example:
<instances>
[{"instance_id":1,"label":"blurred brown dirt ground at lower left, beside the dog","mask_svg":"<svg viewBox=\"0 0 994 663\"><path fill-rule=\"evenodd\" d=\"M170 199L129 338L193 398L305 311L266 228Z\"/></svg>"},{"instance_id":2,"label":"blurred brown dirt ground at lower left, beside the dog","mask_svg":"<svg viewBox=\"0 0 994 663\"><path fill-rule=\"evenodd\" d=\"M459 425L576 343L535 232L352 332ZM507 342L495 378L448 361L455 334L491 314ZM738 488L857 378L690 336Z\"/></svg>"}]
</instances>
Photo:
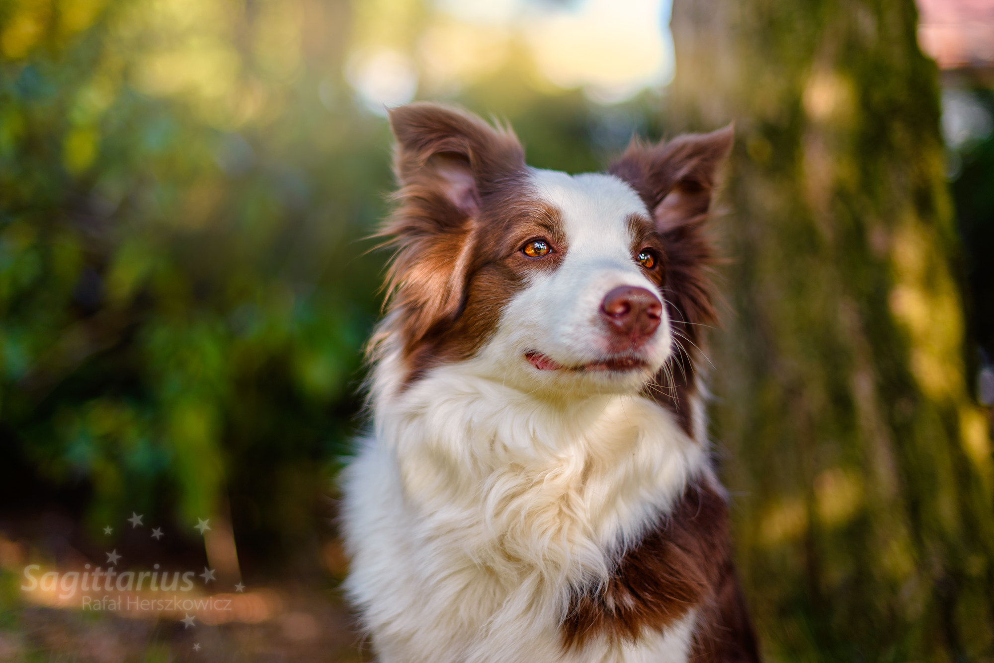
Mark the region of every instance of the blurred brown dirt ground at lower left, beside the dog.
<instances>
[{"instance_id":1,"label":"blurred brown dirt ground at lower left, beside the dog","mask_svg":"<svg viewBox=\"0 0 994 663\"><path fill-rule=\"evenodd\" d=\"M313 568L304 574L297 570L284 577L270 574L260 579L249 570L238 579L222 576L207 582L193 575L205 566L202 551L198 558L196 550L190 555L189 547L155 550L158 542L148 538L148 531L143 533L142 540L148 542L144 544L127 538L140 533L140 528L132 532L128 527L127 536L106 546L133 560L131 567L126 564L128 557L117 563L121 573L128 569L150 572L160 566L193 570L192 588L183 592L182 585L174 585L177 591L162 592L163 579L163 588L157 592L140 584L143 592L127 588L84 592L81 583L74 592L62 593L58 586L45 591L41 582L26 590L46 573L65 580L76 571L83 578L84 570L103 561L109 551L92 547L79 529L78 523L51 514L29 519L0 514L0 661L373 660L368 644L356 634L354 618L337 587L345 575L345 558L337 540L326 540L315 546L313 554L308 553ZM26 572L31 565L38 568ZM236 589L236 580L245 587ZM177 602L171 604L169 597ZM137 609L140 600L150 602ZM181 604L188 600L193 602ZM102 609L95 609L101 601ZM133 604L130 608L128 601Z\"/></svg>"}]
</instances>

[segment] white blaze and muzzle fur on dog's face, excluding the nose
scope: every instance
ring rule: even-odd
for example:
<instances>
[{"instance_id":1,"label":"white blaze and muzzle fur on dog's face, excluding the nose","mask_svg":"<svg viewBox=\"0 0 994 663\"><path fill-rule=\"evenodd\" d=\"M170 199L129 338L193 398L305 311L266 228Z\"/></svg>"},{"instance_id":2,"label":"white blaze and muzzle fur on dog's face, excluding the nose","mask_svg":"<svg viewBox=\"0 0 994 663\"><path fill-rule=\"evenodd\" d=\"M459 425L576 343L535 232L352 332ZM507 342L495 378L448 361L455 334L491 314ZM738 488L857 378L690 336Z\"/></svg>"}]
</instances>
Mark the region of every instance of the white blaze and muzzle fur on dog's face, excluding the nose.
<instances>
[{"instance_id":1,"label":"white blaze and muzzle fur on dog's face, excluding the nose","mask_svg":"<svg viewBox=\"0 0 994 663\"><path fill-rule=\"evenodd\" d=\"M478 355L481 368L527 391L637 391L669 356L672 332L665 309L652 337L629 353L646 363L642 370L537 371L524 354L537 350L564 366L602 360L609 341L600 320L604 296L618 286L635 286L662 298L632 255L627 219L647 215L645 205L628 185L608 175L533 170L529 184L535 196L562 212L566 255L556 270L533 275L507 305L493 339Z\"/></svg>"}]
</instances>

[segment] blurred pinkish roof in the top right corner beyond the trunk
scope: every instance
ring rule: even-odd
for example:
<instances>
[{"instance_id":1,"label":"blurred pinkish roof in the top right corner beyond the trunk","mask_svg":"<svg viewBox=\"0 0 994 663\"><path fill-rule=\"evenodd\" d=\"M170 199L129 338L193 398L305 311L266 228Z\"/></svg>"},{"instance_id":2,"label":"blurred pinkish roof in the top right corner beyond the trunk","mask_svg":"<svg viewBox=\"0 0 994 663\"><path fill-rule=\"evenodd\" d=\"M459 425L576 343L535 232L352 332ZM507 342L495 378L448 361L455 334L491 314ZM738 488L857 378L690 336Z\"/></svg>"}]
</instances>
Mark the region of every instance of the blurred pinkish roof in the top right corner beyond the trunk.
<instances>
[{"instance_id":1,"label":"blurred pinkish roof in the top right corner beyond the trunk","mask_svg":"<svg viewBox=\"0 0 994 663\"><path fill-rule=\"evenodd\" d=\"M994 0L917 0L918 44L942 69L994 68Z\"/></svg>"}]
</instances>

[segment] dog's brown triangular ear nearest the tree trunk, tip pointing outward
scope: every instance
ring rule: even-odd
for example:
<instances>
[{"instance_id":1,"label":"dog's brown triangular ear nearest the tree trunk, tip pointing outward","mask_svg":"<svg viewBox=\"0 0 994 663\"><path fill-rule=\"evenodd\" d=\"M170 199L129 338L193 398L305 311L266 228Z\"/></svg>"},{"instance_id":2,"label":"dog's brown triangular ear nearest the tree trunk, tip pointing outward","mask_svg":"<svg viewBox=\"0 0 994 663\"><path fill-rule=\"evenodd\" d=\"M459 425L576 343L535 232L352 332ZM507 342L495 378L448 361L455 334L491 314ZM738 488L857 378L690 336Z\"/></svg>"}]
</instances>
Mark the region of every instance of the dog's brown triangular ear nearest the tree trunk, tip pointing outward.
<instances>
[{"instance_id":1,"label":"dog's brown triangular ear nearest the tree trunk, tip pointing outward","mask_svg":"<svg viewBox=\"0 0 994 663\"><path fill-rule=\"evenodd\" d=\"M730 124L710 134L684 134L656 145L632 139L608 173L638 192L665 233L708 212L734 135Z\"/></svg>"}]
</instances>

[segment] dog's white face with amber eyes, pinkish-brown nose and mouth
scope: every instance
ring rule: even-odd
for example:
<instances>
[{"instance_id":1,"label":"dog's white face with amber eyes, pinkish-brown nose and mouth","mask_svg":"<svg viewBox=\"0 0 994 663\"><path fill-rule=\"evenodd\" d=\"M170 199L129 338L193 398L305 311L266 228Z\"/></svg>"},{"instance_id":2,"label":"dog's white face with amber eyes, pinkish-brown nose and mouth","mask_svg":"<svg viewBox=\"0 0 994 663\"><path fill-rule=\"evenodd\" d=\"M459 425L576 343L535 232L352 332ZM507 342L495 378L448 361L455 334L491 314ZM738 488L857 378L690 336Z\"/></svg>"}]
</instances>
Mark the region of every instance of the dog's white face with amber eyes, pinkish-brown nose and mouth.
<instances>
[{"instance_id":1,"label":"dog's white face with amber eyes, pinkish-brown nose and mouth","mask_svg":"<svg viewBox=\"0 0 994 663\"><path fill-rule=\"evenodd\" d=\"M520 284L484 363L527 389L637 390L672 346L666 251L645 204L607 175L533 170L523 192L545 218L503 246Z\"/></svg>"}]
</instances>

